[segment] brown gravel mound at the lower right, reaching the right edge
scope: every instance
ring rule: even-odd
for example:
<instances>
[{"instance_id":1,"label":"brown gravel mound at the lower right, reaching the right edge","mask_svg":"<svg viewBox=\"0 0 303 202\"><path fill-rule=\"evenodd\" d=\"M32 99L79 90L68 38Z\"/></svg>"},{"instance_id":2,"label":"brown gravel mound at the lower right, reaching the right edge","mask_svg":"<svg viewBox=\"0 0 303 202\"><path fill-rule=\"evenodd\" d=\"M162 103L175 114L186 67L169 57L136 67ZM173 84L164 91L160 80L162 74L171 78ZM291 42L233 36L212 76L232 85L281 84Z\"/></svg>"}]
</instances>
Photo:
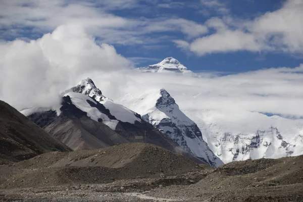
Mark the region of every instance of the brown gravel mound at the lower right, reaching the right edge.
<instances>
[{"instance_id":1,"label":"brown gravel mound at the lower right, reaching the right edge","mask_svg":"<svg viewBox=\"0 0 303 202\"><path fill-rule=\"evenodd\" d=\"M155 189L151 195L209 201L303 201L303 156L223 165L198 183Z\"/></svg>"}]
</instances>

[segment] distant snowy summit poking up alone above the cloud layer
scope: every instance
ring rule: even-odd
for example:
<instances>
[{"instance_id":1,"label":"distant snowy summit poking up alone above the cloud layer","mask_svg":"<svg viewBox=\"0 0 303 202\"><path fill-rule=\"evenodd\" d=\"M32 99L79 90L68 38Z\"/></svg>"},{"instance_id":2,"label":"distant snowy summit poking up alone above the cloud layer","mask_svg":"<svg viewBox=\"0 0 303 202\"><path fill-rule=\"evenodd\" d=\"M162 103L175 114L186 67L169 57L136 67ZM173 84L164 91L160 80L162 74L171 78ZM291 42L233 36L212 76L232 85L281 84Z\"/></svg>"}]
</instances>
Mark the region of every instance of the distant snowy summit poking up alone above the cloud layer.
<instances>
[{"instance_id":1,"label":"distant snowy summit poking up alone above the cloud layer","mask_svg":"<svg viewBox=\"0 0 303 202\"><path fill-rule=\"evenodd\" d=\"M140 70L142 72L158 72L158 73L164 73L164 72L190 73L191 72L190 70L187 70L187 68L184 65L182 65L179 61L177 61L172 57L166 58L160 63L155 65L149 65L147 67L137 68L137 70Z\"/></svg>"}]
</instances>

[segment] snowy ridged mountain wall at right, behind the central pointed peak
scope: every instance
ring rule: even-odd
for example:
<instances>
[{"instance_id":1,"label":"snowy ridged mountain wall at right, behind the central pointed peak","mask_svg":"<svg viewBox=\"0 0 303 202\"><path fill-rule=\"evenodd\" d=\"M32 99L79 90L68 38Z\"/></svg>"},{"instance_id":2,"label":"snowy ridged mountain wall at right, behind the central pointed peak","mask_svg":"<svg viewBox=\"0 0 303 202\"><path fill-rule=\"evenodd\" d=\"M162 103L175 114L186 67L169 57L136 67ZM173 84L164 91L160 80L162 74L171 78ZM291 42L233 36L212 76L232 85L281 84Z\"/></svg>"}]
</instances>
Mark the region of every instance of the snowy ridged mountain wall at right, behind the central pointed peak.
<instances>
[{"instance_id":1,"label":"snowy ridged mountain wall at right, behind the central pointed peak","mask_svg":"<svg viewBox=\"0 0 303 202\"><path fill-rule=\"evenodd\" d=\"M210 148L224 163L303 154L301 120L244 111L184 112L197 123Z\"/></svg>"}]
</instances>

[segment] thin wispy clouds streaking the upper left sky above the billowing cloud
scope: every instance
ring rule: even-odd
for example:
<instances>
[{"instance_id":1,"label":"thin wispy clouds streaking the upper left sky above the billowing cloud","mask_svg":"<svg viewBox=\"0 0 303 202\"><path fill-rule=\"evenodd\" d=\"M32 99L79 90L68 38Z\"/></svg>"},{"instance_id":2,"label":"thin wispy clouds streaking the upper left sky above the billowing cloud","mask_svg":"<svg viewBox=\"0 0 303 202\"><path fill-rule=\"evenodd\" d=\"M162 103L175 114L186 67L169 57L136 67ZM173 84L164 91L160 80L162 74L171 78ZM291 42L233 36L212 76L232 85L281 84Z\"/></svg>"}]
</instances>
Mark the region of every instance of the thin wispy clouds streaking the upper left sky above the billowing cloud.
<instances>
[{"instance_id":1,"label":"thin wispy clouds streaking the upper left sky above the billowing cloud","mask_svg":"<svg viewBox=\"0 0 303 202\"><path fill-rule=\"evenodd\" d=\"M202 24L178 17L133 18L112 13L113 10L136 9L138 11L147 6L142 5L142 2L153 3L149 0L5 1L0 7L2 14L0 25L4 30L0 37L7 40L25 37L35 39L38 38L36 36L52 32L60 25L77 24L83 26L102 42L132 45L158 43L158 37L150 37L153 33L180 32L192 38L208 30Z\"/></svg>"}]
</instances>

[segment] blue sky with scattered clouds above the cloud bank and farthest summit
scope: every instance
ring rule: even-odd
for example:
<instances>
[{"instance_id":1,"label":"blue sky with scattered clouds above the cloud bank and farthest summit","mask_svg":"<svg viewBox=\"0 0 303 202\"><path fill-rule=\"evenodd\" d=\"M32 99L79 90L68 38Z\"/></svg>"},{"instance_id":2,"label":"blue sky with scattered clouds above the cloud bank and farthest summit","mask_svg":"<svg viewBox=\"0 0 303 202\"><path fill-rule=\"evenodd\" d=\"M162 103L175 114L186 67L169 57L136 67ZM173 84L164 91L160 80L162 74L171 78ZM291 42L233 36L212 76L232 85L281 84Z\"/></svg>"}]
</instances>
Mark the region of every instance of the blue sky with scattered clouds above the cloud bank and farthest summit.
<instances>
[{"instance_id":1,"label":"blue sky with scattered clouds above the cloud bank and farthest summit","mask_svg":"<svg viewBox=\"0 0 303 202\"><path fill-rule=\"evenodd\" d=\"M4 18L0 21L0 37L37 39L61 24L80 23L98 43L113 45L136 67L174 57L196 72L293 68L303 63L303 25L298 20L303 11L299 3L300 0L7 1L1 3Z\"/></svg>"}]
</instances>

